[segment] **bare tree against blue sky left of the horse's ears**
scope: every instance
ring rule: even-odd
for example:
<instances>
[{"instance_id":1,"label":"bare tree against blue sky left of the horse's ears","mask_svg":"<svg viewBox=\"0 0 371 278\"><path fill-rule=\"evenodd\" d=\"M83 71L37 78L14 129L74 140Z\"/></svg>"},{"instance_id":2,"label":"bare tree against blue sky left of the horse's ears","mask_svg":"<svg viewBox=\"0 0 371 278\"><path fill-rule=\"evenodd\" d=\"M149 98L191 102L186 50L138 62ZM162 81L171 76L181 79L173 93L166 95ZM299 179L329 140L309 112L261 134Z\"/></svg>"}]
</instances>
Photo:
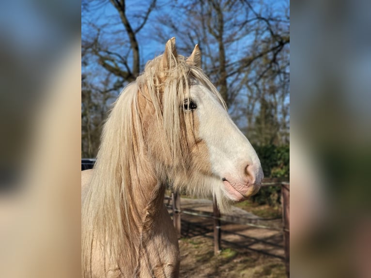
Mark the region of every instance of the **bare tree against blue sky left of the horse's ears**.
<instances>
[{"instance_id":1,"label":"bare tree against blue sky left of the horse's ears","mask_svg":"<svg viewBox=\"0 0 371 278\"><path fill-rule=\"evenodd\" d=\"M129 4L127 3L129 2ZM155 10L156 0L134 9L133 1L81 2L82 9L82 155L96 155L110 103L140 73L139 32ZM110 16L102 11L113 11Z\"/></svg>"}]
</instances>

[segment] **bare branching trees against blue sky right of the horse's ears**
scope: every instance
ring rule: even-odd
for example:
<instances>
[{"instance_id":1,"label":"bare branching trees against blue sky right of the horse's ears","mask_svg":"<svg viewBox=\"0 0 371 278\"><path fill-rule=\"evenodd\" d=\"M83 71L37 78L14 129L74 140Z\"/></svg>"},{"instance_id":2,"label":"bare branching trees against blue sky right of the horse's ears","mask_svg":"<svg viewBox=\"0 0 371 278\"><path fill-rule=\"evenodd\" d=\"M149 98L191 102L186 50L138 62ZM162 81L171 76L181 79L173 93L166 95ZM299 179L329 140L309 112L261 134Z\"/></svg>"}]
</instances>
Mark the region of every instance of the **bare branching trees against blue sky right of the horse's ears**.
<instances>
[{"instance_id":1,"label":"bare branching trees against blue sky right of the horse's ears","mask_svg":"<svg viewBox=\"0 0 371 278\"><path fill-rule=\"evenodd\" d=\"M262 1L191 0L173 4L171 13L157 17L159 41L176 33L184 53L200 44L203 70L255 143L278 144L288 139L283 134L288 131L288 5L278 10ZM270 113L275 124L263 119Z\"/></svg>"}]
</instances>

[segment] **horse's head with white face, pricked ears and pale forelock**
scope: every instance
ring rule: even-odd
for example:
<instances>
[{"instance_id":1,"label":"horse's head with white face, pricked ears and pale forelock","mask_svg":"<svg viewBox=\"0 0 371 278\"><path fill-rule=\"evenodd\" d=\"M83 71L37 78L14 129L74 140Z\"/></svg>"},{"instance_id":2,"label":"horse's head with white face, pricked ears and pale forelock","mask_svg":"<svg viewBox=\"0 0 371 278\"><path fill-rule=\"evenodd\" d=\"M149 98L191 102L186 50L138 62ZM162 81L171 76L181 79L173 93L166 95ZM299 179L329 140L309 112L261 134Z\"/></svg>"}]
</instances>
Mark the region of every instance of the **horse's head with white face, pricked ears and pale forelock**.
<instances>
[{"instance_id":1,"label":"horse's head with white face, pricked ears and pale forelock","mask_svg":"<svg viewBox=\"0 0 371 278\"><path fill-rule=\"evenodd\" d=\"M175 38L170 39L142 78L139 103L150 112L144 113L143 135L175 186L211 192L219 202L258 192L263 179L259 158L202 73L198 45L185 59L176 53Z\"/></svg>"}]
</instances>

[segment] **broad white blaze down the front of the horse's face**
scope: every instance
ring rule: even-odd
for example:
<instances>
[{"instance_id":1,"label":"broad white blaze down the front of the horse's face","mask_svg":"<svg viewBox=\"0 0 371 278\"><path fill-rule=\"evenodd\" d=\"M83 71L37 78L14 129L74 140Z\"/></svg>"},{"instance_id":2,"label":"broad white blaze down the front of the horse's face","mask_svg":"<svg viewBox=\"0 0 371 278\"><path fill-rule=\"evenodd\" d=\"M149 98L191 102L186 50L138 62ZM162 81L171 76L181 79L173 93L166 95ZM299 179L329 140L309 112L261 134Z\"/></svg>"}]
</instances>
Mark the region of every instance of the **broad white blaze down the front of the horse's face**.
<instances>
[{"instance_id":1,"label":"broad white blaze down the front of the horse's face","mask_svg":"<svg viewBox=\"0 0 371 278\"><path fill-rule=\"evenodd\" d=\"M253 182L260 183L263 171L258 155L216 96L200 83L191 87L190 94L197 104L199 134L208 146L213 173L220 180L243 182L249 165L255 176Z\"/></svg>"}]
</instances>

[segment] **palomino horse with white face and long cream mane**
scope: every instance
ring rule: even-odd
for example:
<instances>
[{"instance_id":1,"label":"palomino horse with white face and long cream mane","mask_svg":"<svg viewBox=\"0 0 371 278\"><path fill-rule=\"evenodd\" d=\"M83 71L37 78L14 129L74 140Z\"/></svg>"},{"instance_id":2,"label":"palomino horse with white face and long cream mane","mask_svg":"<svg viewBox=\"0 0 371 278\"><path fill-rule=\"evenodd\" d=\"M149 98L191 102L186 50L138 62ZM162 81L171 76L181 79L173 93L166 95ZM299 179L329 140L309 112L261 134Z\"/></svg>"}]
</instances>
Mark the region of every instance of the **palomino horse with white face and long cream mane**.
<instances>
[{"instance_id":1,"label":"palomino horse with white face and long cream mane","mask_svg":"<svg viewBox=\"0 0 371 278\"><path fill-rule=\"evenodd\" d=\"M200 66L199 47L185 59L172 38L117 99L82 175L84 278L178 277L169 182L214 196L222 211L259 190L259 158Z\"/></svg>"}]
</instances>

